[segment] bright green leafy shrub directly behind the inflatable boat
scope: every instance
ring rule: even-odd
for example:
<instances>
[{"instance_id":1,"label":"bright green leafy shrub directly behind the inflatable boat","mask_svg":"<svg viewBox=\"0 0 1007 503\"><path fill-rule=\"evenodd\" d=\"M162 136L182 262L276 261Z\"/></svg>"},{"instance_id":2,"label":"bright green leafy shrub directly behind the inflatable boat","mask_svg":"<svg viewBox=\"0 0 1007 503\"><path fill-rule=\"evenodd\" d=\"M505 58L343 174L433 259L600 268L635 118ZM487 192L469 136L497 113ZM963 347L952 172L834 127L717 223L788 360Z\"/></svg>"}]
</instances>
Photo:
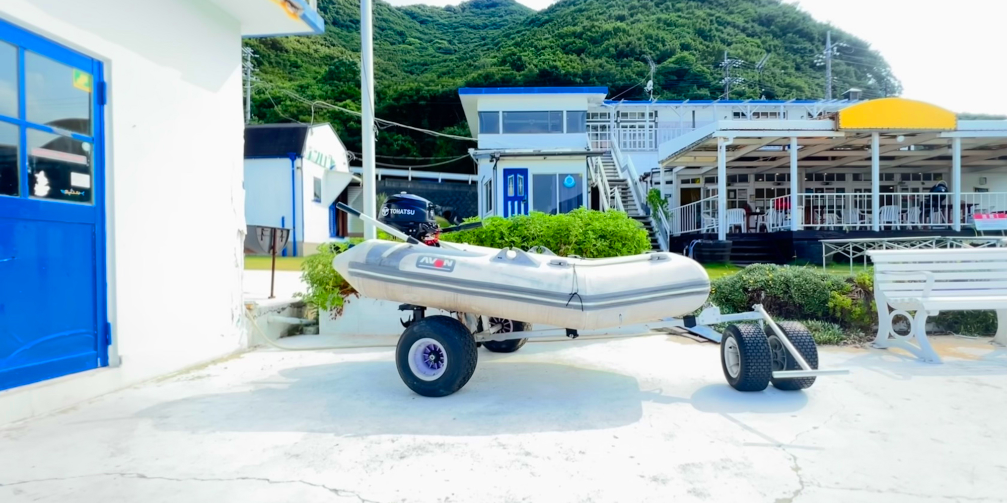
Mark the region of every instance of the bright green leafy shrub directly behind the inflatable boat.
<instances>
[{"instance_id":1,"label":"bright green leafy shrub directly behind the inflatable boat","mask_svg":"<svg viewBox=\"0 0 1007 503\"><path fill-rule=\"evenodd\" d=\"M558 256L588 259L636 255L651 249L646 230L625 213L585 208L558 215L532 212L511 218L490 217L479 228L441 237L498 248L545 246Z\"/></svg>"}]
</instances>

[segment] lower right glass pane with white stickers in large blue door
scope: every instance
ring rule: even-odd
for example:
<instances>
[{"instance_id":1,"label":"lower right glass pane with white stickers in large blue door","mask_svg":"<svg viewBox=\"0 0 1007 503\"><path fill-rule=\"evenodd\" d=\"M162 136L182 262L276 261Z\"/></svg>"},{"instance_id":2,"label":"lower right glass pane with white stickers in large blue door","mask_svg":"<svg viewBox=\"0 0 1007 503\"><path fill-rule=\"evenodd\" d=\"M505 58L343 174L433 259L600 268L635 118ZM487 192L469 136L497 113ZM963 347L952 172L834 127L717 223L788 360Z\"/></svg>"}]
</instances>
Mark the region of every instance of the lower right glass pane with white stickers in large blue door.
<instances>
[{"instance_id":1,"label":"lower right glass pane with white stickers in large blue door","mask_svg":"<svg viewBox=\"0 0 1007 503\"><path fill-rule=\"evenodd\" d=\"M91 202L91 144L44 131L28 130L29 195Z\"/></svg>"}]
</instances>

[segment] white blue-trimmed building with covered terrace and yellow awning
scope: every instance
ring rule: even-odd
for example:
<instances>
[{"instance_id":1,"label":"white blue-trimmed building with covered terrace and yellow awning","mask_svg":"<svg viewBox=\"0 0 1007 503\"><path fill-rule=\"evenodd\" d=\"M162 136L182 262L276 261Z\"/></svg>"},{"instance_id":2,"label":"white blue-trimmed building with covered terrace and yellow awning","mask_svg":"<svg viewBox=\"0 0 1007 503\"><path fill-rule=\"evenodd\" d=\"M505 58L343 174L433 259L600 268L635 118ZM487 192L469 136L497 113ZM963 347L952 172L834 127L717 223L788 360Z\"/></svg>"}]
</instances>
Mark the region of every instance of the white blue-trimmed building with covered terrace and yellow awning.
<instances>
[{"instance_id":1,"label":"white blue-trimmed building with covered terrace and yellow awning","mask_svg":"<svg viewBox=\"0 0 1007 503\"><path fill-rule=\"evenodd\" d=\"M856 90L834 101L627 102L606 94L459 90L478 139L471 155L481 214L615 207L668 249L678 236L725 239L742 229L960 232L976 212L1007 211L1005 121L958 121L901 99L863 102ZM952 195L923 194L941 182ZM667 213L648 208L652 189ZM949 209L948 198L962 209Z\"/></svg>"}]
</instances>

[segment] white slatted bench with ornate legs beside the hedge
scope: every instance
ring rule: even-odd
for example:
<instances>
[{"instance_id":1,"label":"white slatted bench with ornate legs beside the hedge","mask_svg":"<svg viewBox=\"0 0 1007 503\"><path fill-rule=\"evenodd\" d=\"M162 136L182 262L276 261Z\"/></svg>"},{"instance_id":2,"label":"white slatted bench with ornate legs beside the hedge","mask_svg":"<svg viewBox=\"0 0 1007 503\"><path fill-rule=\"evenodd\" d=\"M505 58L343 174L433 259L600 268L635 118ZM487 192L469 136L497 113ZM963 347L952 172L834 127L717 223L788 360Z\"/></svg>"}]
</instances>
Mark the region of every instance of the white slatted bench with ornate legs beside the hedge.
<instances>
[{"instance_id":1,"label":"white slatted bench with ornate legs beside the hedge","mask_svg":"<svg viewBox=\"0 0 1007 503\"><path fill-rule=\"evenodd\" d=\"M941 311L996 311L994 343L1007 345L1007 248L887 249L874 263L878 334L874 347L898 347L940 363L926 340L926 318ZM912 316L909 312L913 312ZM892 320L908 320L908 333ZM913 341L914 339L914 341Z\"/></svg>"}]
</instances>

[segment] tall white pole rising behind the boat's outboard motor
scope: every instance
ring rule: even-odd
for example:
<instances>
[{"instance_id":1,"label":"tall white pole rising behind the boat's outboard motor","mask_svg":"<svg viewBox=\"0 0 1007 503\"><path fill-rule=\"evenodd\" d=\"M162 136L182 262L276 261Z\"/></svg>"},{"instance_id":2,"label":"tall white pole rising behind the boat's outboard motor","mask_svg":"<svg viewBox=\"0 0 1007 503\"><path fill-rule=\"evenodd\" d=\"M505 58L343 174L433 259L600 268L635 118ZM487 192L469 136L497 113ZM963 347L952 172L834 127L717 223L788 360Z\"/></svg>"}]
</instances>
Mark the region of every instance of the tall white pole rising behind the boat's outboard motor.
<instances>
[{"instance_id":1,"label":"tall white pole rising behind the boat's outboard motor","mask_svg":"<svg viewBox=\"0 0 1007 503\"><path fill-rule=\"evenodd\" d=\"M364 169L361 185L364 190L364 214L378 217L378 187L375 176L375 68L374 68L374 15L372 0L361 0L361 119ZM364 222L364 238L378 237L378 229Z\"/></svg>"}]
</instances>

